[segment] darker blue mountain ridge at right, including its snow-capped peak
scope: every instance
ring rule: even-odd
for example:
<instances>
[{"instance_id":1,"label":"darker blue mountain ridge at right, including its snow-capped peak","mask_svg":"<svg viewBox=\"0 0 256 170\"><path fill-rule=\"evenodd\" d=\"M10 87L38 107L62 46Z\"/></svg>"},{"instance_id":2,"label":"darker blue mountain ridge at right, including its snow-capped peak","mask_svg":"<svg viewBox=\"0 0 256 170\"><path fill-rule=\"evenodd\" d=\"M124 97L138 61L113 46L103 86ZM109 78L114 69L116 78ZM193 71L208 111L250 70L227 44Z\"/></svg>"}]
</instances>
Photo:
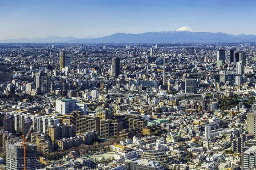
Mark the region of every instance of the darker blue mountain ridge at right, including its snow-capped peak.
<instances>
[{"instance_id":1,"label":"darker blue mountain ridge at right, including its snow-capped peak","mask_svg":"<svg viewBox=\"0 0 256 170\"><path fill-rule=\"evenodd\" d=\"M256 35L233 35L222 32L195 32L189 27L174 31L146 32L141 34L116 33L101 38L68 42L112 43L112 42L256 42Z\"/></svg>"}]
</instances>

